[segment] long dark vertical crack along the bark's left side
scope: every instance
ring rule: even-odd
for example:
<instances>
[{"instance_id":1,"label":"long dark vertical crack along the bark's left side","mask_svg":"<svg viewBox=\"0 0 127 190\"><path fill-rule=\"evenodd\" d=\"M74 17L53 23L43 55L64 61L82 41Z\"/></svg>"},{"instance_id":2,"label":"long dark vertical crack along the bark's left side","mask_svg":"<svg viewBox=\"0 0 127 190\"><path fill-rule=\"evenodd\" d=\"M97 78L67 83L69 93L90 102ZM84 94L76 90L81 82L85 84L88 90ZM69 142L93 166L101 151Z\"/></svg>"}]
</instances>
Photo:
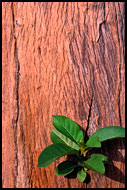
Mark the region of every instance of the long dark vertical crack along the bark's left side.
<instances>
[{"instance_id":1,"label":"long dark vertical crack along the bark's left side","mask_svg":"<svg viewBox=\"0 0 127 190\"><path fill-rule=\"evenodd\" d=\"M15 99L16 99L16 116L12 120L13 130L14 130L14 151L15 151L15 170L14 170L14 187L17 187L17 177L18 177L18 142L17 142L17 123L19 119L19 71L20 63L18 59L18 48L17 48L17 38L15 35L15 13L14 13L14 3L12 2L12 22L13 22L13 37L14 37L14 62L15 62Z\"/></svg>"}]
</instances>

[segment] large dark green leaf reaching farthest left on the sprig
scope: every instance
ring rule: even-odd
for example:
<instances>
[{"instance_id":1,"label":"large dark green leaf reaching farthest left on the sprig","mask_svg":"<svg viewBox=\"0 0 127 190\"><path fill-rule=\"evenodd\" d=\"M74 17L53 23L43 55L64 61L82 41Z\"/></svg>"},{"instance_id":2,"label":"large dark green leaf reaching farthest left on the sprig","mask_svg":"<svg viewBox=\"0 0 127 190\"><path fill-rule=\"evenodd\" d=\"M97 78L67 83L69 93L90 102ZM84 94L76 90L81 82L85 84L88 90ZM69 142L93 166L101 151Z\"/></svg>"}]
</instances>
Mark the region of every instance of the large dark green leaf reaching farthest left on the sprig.
<instances>
[{"instance_id":1,"label":"large dark green leaf reaching farthest left on the sprig","mask_svg":"<svg viewBox=\"0 0 127 190\"><path fill-rule=\"evenodd\" d=\"M51 144L46 147L38 158L38 167L47 167L52 162L66 154L73 154L74 150L62 143Z\"/></svg>"}]
</instances>

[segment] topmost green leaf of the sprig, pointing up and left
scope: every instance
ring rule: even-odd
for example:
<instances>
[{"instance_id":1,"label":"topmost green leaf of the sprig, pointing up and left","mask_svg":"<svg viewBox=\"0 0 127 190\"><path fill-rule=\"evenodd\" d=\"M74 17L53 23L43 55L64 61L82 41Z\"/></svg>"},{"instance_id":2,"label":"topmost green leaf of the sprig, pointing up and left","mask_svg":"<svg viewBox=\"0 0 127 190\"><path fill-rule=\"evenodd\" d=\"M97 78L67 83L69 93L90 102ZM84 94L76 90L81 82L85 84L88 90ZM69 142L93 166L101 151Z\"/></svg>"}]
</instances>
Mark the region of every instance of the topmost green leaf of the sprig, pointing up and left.
<instances>
[{"instance_id":1,"label":"topmost green leaf of the sprig, pointing up and left","mask_svg":"<svg viewBox=\"0 0 127 190\"><path fill-rule=\"evenodd\" d=\"M53 115L53 125L63 135L77 144L83 142L83 132L70 118L61 115Z\"/></svg>"}]
</instances>

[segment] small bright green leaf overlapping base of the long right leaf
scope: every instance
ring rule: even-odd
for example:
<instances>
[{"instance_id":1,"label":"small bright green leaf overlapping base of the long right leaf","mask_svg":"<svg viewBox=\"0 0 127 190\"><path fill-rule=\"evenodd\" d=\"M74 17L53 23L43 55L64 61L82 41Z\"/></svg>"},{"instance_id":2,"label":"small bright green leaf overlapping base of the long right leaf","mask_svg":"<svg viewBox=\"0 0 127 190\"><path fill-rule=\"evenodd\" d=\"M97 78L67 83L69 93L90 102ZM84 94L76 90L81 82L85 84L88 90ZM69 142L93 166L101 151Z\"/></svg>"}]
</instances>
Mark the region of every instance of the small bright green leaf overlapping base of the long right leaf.
<instances>
[{"instance_id":1,"label":"small bright green leaf overlapping base of the long right leaf","mask_svg":"<svg viewBox=\"0 0 127 190\"><path fill-rule=\"evenodd\" d=\"M86 145L87 147L101 147L101 142L99 141L99 137L95 136L93 138L89 138Z\"/></svg>"}]
</instances>

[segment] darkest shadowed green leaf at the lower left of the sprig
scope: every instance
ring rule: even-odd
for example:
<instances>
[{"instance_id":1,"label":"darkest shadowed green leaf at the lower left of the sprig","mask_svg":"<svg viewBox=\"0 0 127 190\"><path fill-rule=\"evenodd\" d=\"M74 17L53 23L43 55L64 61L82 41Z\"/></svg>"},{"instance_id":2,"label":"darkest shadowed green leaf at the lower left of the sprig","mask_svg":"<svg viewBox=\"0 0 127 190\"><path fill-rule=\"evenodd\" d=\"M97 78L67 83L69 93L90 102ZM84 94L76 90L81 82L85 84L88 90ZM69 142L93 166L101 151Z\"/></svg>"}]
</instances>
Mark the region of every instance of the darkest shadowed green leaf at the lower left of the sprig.
<instances>
[{"instance_id":1,"label":"darkest shadowed green leaf at the lower left of the sprig","mask_svg":"<svg viewBox=\"0 0 127 190\"><path fill-rule=\"evenodd\" d=\"M60 176L66 176L71 173L77 166L78 165L75 162L71 162L69 160L64 161L56 167L55 174Z\"/></svg>"}]
</instances>

